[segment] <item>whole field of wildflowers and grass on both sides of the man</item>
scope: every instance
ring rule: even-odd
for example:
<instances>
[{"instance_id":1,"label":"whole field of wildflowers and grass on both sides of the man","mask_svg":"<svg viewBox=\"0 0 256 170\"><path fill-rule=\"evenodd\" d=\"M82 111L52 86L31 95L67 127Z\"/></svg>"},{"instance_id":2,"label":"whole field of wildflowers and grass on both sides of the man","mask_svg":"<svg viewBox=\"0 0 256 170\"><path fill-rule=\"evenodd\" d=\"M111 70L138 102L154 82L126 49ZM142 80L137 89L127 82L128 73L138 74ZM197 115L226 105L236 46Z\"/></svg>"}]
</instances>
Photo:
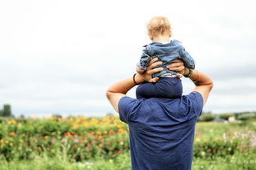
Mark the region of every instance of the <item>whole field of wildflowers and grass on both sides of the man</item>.
<instances>
[{"instance_id":1,"label":"whole field of wildflowers and grass on both sides of the man","mask_svg":"<svg viewBox=\"0 0 256 170\"><path fill-rule=\"evenodd\" d=\"M65 165L56 169L130 169L128 126L117 116L0 121L0 169L29 169L38 158ZM196 124L193 169L255 169L255 158L255 121Z\"/></svg>"}]
</instances>

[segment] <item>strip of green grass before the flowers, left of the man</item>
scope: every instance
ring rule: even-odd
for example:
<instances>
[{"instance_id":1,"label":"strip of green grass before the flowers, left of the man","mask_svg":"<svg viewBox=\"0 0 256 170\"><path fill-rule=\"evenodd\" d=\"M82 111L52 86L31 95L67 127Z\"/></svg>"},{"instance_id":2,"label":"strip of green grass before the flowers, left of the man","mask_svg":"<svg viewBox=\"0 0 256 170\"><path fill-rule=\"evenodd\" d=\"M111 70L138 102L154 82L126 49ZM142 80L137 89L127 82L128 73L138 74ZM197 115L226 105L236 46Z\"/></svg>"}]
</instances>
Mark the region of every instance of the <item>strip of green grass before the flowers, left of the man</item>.
<instances>
[{"instance_id":1,"label":"strip of green grass before the flowers, left of the man","mask_svg":"<svg viewBox=\"0 0 256 170\"><path fill-rule=\"evenodd\" d=\"M65 155L54 158L36 157L33 160L0 160L0 170L128 170L130 155L119 155L116 159L92 159L86 162L70 162Z\"/></svg>"}]
</instances>

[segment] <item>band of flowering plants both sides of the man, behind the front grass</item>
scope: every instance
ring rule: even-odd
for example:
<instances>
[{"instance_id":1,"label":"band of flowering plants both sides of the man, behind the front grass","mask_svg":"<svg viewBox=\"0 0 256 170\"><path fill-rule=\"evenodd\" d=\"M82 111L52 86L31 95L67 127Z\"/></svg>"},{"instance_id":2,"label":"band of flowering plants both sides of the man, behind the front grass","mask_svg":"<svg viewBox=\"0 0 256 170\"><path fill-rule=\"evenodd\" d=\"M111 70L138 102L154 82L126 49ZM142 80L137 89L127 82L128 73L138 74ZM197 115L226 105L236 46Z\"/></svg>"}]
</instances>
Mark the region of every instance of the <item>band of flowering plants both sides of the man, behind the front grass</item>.
<instances>
[{"instance_id":1,"label":"band of flowering plants both sides of the man, behind the front grass","mask_svg":"<svg viewBox=\"0 0 256 170\"><path fill-rule=\"evenodd\" d=\"M204 114L204 120L213 119ZM240 129L245 129L241 131ZM256 152L253 122L198 123L195 129L194 156L211 159L236 152ZM105 118L56 118L2 120L0 123L0 157L7 160L50 158L64 153L70 160L115 159L129 152L128 126L118 116Z\"/></svg>"}]
</instances>

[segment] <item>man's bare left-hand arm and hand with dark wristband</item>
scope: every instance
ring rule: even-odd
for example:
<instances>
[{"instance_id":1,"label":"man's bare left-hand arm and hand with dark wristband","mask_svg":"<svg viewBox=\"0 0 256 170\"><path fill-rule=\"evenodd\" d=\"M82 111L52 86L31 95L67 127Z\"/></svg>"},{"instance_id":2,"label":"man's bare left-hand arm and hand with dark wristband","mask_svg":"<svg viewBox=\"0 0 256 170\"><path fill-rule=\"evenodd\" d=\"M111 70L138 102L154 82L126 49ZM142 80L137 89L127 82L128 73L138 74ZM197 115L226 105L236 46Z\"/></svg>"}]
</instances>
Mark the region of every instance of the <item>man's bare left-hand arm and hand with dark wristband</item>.
<instances>
[{"instance_id":1,"label":"man's bare left-hand arm and hand with dark wristband","mask_svg":"<svg viewBox=\"0 0 256 170\"><path fill-rule=\"evenodd\" d=\"M159 65L161 65L163 62L159 61L156 62L158 59L151 59L149 63L149 67L147 68L146 72L143 74L136 74L134 77L134 80L137 84L141 84L144 81L149 81L149 82L156 82L158 81L158 77L152 78L151 75L154 74L155 72L160 72L164 68L155 68ZM118 104L120 98L123 98L126 96L126 93L128 90L132 89L135 84L133 82L133 77L130 77L128 79L125 79L123 81L119 81L115 83L114 85L111 85L109 89L106 91L106 97L109 99L112 107L115 108L115 111L119 112L118 109Z\"/></svg>"}]
</instances>

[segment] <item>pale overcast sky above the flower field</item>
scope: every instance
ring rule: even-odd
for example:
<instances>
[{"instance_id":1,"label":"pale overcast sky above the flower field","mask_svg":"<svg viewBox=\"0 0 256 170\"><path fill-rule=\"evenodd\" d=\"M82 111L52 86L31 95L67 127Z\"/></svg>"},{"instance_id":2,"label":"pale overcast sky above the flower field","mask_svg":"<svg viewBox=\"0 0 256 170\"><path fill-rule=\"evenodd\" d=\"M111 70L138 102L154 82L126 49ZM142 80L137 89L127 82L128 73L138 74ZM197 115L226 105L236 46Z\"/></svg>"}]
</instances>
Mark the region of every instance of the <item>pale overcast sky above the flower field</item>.
<instances>
[{"instance_id":1,"label":"pale overcast sky above the flower field","mask_svg":"<svg viewBox=\"0 0 256 170\"><path fill-rule=\"evenodd\" d=\"M0 107L11 104L15 116L115 113L106 89L132 77L150 43L146 22L164 15L195 69L214 81L204 111L256 111L255 3L0 1ZM194 87L182 84L184 94Z\"/></svg>"}]
</instances>

